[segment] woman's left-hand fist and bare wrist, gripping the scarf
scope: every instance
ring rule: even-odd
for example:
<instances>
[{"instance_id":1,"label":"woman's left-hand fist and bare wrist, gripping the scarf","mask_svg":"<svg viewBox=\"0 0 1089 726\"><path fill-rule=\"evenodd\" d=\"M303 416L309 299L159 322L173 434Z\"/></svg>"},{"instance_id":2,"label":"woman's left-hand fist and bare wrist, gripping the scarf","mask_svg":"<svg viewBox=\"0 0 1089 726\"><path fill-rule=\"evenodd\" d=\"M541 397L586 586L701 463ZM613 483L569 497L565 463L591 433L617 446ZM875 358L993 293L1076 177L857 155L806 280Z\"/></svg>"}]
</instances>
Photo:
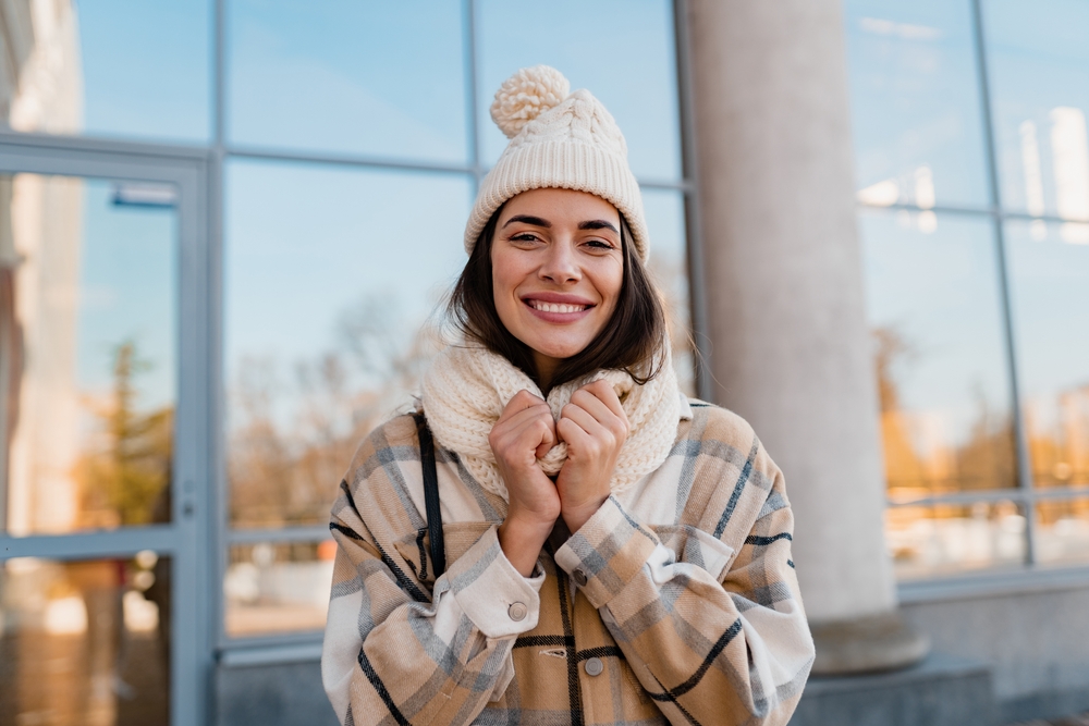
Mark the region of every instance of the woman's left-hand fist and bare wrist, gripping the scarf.
<instances>
[{"instance_id":1,"label":"woman's left-hand fist and bare wrist, gripping the scarf","mask_svg":"<svg viewBox=\"0 0 1089 726\"><path fill-rule=\"evenodd\" d=\"M515 569L528 577L560 516L555 484L537 464L556 443L551 409L528 391L519 391L503 408L488 443L510 499L506 519L499 526L499 544Z\"/></svg>"}]
</instances>

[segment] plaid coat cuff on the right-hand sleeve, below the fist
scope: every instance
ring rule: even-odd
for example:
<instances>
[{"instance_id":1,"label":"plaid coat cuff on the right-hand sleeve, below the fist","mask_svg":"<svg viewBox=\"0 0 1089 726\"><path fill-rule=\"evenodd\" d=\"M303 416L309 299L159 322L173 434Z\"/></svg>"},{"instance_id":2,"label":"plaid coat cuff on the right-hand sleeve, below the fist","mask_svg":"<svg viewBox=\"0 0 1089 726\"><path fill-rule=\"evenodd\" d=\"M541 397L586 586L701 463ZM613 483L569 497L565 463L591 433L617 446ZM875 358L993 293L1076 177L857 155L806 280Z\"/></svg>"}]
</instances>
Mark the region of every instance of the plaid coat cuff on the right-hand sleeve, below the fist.
<instances>
[{"instance_id":1,"label":"plaid coat cuff on the right-hand sleeve, below the fist","mask_svg":"<svg viewBox=\"0 0 1089 726\"><path fill-rule=\"evenodd\" d=\"M604 607L647 564L658 538L610 496L555 553L595 607Z\"/></svg>"}]
</instances>

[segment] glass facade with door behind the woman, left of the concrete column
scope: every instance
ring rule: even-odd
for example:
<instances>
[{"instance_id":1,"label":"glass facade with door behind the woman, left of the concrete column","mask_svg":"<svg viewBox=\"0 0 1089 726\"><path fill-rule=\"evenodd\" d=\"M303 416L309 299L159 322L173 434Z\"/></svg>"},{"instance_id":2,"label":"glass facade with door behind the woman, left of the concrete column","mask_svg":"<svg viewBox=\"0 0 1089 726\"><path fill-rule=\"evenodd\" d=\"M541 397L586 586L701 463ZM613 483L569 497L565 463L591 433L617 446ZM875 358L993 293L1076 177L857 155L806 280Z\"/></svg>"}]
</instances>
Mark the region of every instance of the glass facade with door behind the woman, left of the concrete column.
<instances>
[{"instance_id":1,"label":"glass facade with door behind the woman, left of the concrete column","mask_svg":"<svg viewBox=\"0 0 1089 726\"><path fill-rule=\"evenodd\" d=\"M0 172L0 539L28 555L0 570L0 723L200 723L195 659L320 640L329 506L442 344L505 144L492 93L521 66L556 66L624 130L694 393L670 0L10 10L4 131L103 173ZM587 44L587 23L612 32ZM524 26L568 40L511 42ZM179 158L204 175L114 171ZM57 649L63 707L35 685Z\"/></svg>"}]
</instances>

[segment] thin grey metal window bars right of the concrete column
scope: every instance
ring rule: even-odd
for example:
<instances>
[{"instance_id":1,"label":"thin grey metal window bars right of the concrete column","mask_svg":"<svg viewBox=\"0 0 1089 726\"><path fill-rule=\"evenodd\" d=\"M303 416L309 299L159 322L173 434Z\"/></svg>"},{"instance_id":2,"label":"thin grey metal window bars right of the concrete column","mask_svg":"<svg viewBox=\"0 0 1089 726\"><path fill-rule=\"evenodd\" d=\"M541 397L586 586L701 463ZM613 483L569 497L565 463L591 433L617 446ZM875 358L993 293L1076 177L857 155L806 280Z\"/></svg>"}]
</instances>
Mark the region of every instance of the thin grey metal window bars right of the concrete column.
<instances>
[{"instance_id":1,"label":"thin grey metal window bars right of the concrete column","mask_svg":"<svg viewBox=\"0 0 1089 726\"><path fill-rule=\"evenodd\" d=\"M678 2L683 1L678 0ZM1016 488L1004 490L963 491L906 501L888 497L886 506L890 509L895 509L908 506L935 506L942 504L967 505L977 502L1015 502L1019 507L1024 508L1025 513L1025 563L1016 568L998 568L976 573L935 576L932 578L901 580L897 582L897 592L901 602L904 603L991 596L1049 589L1082 588L1089 585L1089 563L1086 565L1049 565L1039 561L1036 505L1040 502L1087 497L1089 496L1089 487L1036 487L1032 475L1031 451L1028 445L1020 395L1019 361L1016 347L1017 333L1014 324L1010 261L1005 233L1005 223L1007 221L1041 220L1048 223L1063 223L1069 220L1064 220L1054 214L1035 216L1003 207L982 0L968 0L968 2L971 9L972 51L975 52L976 61L976 83L979 87L980 123L983 132L984 167L990 205L982 207L970 205L937 205L923 209L918 205L910 204L873 205L858 201L857 208L859 211L930 211L938 214L958 214L972 219L986 219L991 222L994 235L993 250L996 262L995 267L999 274L998 283L1001 298L1000 316L1003 331L1003 347L1006 370L1010 377L1010 398L1013 406L1012 418L1015 443L1014 452L1017 458L1017 485Z\"/></svg>"}]
</instances>

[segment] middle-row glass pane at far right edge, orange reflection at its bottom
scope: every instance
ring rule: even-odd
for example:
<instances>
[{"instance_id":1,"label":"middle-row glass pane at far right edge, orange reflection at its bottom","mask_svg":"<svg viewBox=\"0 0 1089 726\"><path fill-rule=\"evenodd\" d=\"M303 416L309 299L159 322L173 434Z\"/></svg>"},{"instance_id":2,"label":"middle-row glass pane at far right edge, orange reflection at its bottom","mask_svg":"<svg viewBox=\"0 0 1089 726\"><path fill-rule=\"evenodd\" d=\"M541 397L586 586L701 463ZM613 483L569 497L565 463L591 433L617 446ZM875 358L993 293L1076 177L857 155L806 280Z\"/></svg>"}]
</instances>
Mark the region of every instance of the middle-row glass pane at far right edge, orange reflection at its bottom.
<instances>
[{"instance_id":1,"label":"middle-row glass pane at far right edge, orange reflection at its bottom","mask_svg":"<svg viewBox=\"0 0 1089 726\"><path fill-rule=\"evenodd\" d=\"M1037 487L1089 485L1089 225L1006 223L1017 373Z\"/></svg>"}]
</instances>

